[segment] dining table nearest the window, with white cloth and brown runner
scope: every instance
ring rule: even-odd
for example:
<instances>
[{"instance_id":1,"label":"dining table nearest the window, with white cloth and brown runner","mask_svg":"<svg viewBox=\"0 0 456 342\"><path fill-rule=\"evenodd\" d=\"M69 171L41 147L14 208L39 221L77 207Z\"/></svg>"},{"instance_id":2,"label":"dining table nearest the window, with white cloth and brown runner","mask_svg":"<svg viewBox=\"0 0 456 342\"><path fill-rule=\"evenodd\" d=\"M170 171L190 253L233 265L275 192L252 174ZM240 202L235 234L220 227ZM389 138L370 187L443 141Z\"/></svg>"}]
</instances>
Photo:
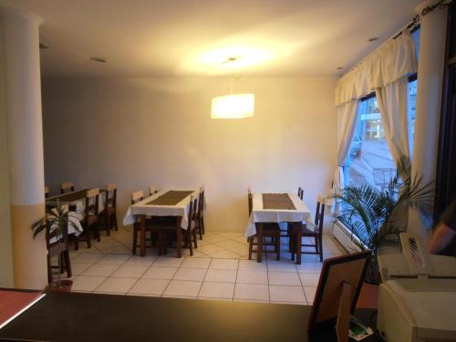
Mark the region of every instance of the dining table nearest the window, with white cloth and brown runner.
<instances>
[{"instance_id":1,"label":"dining table nearest the window, with white cloth and brown runner","mask_svg":"<svg viewBox=\"0 0 456 342\"><path fill-rule=\"evenodd\" d=\"M292 233L296 236L296 264L301 264L302 227L310 218L310 211L306 203L295 193L267 193L253 194L252 212L245 230L245 237L253 237L261 223L290 223ZM260 240L260 239L259 239ZM263 241L258 241L258 251L263 250ZM257 261L262 260L262 253L257 253Z\"/></svg>"}]
</instances>

